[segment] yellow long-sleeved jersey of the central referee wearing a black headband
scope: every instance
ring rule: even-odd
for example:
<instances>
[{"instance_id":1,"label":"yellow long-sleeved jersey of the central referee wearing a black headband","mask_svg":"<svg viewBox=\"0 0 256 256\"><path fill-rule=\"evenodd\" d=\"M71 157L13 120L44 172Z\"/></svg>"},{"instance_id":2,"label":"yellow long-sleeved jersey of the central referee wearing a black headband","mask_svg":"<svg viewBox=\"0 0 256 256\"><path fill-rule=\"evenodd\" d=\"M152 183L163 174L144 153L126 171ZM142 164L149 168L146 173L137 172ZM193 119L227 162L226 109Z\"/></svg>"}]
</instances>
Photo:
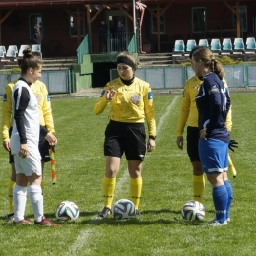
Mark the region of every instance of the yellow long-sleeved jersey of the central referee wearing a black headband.
<instances>
[{"instance_id":1,"label":"yellow long-sleeved jersey of the central referee wearing a black headband","mask_svg":"<svg viewBox=\"0 0 256 256\"><path fill-rule=\"evenodd\" d=\"M114 88L115 95L108 101L106 92L110 87ZM123 84L120 78L108 82L96 101L94 113L102 113L108 104L111 104L109 119L124 123L144 123L146 118L149 135L156 136L153 97L147 82L137 77L129 86Z\"/></svg>"}]
</instances>

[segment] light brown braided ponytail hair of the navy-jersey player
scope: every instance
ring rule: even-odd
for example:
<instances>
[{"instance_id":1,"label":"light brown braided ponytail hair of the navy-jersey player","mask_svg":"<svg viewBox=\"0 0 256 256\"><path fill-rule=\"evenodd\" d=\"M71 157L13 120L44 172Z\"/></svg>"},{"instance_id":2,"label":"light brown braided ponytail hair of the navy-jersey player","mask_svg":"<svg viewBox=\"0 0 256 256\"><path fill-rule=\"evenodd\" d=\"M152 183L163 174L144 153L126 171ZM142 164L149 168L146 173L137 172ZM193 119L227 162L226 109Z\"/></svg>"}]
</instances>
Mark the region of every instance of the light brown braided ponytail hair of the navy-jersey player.
<instances>
[{"instance_id":1,"label":"light brown braided ponytail hair of the navy-jersey player","mask_svg":"<svg viewBox=\"0 0 256 256\"><path fill-rule=\"evenodd\" d=\"M206 47L197 49L192 56L196 61L201 60L204 67L210 68L211 71L215 72L220 79L224 78L224 69L215 59L215 55L210 49Z\"/></svg>"}]
</instances>

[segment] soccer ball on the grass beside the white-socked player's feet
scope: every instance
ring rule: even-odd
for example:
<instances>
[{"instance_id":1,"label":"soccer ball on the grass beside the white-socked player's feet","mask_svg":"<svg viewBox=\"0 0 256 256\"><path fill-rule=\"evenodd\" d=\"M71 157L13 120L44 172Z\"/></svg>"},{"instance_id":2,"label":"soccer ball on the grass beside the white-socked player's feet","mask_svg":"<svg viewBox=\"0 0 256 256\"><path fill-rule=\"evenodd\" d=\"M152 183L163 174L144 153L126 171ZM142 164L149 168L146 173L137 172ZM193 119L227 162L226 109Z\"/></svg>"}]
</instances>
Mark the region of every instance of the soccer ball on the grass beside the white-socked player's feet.
<instances>
[{"instance_id":1,"label":"soccer ball on the grass beside the white-socked player's feet","mask_svg":"<svg viewBox=\"0 0 256 256\"><path fill-rule=\"evenodd\" d=\"M58 204L55 215L61 221L75 220L79 216L79 209L74 202L62 201Z\"/></svg>"}]
</instances>

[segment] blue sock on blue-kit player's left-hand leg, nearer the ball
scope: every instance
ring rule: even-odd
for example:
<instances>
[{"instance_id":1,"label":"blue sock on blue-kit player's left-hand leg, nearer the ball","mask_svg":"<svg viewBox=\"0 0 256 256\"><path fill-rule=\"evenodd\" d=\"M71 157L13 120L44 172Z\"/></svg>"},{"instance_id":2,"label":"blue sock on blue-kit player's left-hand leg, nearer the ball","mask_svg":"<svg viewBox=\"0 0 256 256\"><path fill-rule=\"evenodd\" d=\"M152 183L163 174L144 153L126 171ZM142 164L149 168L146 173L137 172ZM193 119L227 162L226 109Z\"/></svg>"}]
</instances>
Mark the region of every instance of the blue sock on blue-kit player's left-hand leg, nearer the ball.
<instances>
[{"instance_id":1,"label":"blue sock on blue-kit player's left-hand leg, nearer the ball","mask_svg":"<svg viewBox=\"0 0 256 256\"><path fill-rule=\"evenodd\" d=\"M228 194L224 185L213 188L213 200L215 205L216 220L220 224L223 224L226 220L226 207L228 201Z\"/></svg>"}]
</instances>

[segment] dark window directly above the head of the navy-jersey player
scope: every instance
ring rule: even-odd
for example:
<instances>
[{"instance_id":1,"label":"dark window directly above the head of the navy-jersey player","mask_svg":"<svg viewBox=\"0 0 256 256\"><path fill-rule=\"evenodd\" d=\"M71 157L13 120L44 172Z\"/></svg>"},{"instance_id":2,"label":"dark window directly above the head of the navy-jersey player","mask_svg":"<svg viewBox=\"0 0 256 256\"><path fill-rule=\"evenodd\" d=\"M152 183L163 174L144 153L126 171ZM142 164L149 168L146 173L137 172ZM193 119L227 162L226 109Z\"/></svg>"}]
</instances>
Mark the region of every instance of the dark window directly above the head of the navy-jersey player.
<instances>
[{"instance_id":1,"label":"dark window directly above the head of the navy-jersey player","mask_svg":"<svg viewBox=\"0 0 256 256\"><path fill-rule=\"evenodd\" d=\"M192 8L192 31L204 32L206 28L206 8Z\"/></svg>"}]
</instances>

